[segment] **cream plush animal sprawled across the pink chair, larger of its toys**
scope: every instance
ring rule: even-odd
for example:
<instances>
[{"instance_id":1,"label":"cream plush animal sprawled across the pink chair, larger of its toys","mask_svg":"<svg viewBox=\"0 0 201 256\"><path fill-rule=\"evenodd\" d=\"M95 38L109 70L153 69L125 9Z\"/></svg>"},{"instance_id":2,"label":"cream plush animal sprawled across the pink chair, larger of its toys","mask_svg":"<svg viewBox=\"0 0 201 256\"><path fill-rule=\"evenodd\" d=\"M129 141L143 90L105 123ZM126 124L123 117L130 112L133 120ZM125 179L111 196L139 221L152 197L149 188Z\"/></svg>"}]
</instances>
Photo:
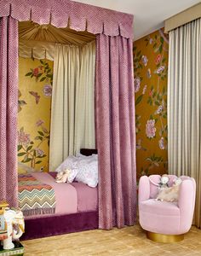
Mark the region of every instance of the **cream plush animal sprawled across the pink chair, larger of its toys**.
<instances>
[{"instance_id":1,"label":"cream plush animal sprawled across the pink chair, larger of its toys","mask_svg":"<svg viewBox=\"0 0 201 256\"><path fill-rule=\"evenodd\" d=\"M159 191L156 201L178 201L181 183L181 177L176 178L172 187Z\"/></svg>"}]
</instances>

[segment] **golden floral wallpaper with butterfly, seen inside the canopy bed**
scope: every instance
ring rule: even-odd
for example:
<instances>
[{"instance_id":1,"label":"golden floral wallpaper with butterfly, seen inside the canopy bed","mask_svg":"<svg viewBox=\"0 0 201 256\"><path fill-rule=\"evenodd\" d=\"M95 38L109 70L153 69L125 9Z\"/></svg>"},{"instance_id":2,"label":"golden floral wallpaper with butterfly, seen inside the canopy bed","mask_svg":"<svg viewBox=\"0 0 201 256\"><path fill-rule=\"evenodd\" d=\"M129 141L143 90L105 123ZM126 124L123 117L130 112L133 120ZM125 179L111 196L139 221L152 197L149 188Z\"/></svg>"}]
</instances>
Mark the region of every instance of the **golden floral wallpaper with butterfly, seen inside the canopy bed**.
<instances>
[{"instance_id":1,"label":"golden floral wallpaper with butterfly, seen inside the canopy bed","mask_svg":"<svg viewBox=\"0 0 201 256\"><path fill-rule=\"evenodd\" d=\"M53 61L19 58L18 161L49 171Z\"/></svg>"}]
</instances>

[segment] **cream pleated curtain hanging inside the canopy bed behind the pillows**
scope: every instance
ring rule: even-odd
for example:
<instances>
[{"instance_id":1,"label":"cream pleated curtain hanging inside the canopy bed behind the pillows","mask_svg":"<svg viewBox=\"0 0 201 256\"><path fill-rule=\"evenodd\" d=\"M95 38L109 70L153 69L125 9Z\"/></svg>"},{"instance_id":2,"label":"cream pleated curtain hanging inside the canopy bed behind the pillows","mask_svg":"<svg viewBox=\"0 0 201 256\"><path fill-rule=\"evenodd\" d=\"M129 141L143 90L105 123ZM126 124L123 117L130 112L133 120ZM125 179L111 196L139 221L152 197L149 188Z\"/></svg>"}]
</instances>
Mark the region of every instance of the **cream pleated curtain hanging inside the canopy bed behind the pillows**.
<instances>
[{"instance_id":1,"label":"cream pleated curtain hanging inside the canopy bed behind the pillows","mask_svg":"<svg viewBox=\"0 0 201 256\"><path fill-rule=\"evenodd\" d=\"M49 170L68 155L95 147L95 42L55 45Z\"/></svg>"}]
</instances>

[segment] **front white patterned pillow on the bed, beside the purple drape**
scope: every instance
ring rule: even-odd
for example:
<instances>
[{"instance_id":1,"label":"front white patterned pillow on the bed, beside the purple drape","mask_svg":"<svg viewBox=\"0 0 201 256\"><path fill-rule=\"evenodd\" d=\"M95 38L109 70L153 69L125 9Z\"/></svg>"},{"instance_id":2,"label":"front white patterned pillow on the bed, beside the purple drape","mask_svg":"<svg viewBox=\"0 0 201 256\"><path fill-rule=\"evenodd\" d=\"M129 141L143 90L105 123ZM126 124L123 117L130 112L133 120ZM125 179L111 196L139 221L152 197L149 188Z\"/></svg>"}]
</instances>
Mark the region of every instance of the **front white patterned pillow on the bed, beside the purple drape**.
<instances>
[{"instance_id":1,"label":"front white patterned pillow on the bed, beside the purple drape","mask_svg":"<svg viewBox=\"0 0 201 256\"><path fill-rule=\"evenodd\" d=\"M80 160L78 163L78 174L76 181L87 184L95 188L98 184L98 160L93 158Z\"/></svg>"}]
</instances>

